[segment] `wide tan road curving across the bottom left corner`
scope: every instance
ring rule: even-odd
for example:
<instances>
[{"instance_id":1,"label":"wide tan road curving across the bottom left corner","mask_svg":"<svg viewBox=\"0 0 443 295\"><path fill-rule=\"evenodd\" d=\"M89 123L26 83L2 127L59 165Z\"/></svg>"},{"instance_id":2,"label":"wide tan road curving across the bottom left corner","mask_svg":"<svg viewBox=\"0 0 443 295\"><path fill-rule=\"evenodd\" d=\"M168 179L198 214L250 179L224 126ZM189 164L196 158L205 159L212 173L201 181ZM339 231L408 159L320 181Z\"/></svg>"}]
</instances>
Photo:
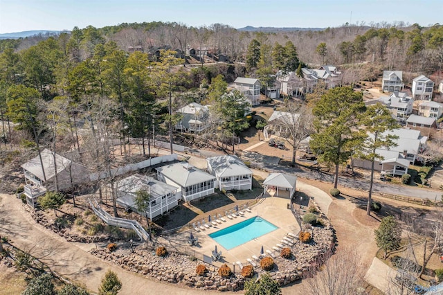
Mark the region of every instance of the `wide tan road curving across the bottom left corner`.
<instances>
[{"instance_id":1,"label":"wide tan road curving across the bottom left corner","mask_svg":"<svg viewBox=\"0 0 443 295\"><path fill-rule=\"evenodd\" d=\"M105 272L111 269L123 283L123 288L118 294L208 294L197 289L157 283L96 258L36 224L24 210L21 200L12 195L0 194L0 235L10 238L16 247L39 258L57 274L73 282L83 283L93 292L98 292L100 280L105 276Z\"/></svg>"}]
</instances>

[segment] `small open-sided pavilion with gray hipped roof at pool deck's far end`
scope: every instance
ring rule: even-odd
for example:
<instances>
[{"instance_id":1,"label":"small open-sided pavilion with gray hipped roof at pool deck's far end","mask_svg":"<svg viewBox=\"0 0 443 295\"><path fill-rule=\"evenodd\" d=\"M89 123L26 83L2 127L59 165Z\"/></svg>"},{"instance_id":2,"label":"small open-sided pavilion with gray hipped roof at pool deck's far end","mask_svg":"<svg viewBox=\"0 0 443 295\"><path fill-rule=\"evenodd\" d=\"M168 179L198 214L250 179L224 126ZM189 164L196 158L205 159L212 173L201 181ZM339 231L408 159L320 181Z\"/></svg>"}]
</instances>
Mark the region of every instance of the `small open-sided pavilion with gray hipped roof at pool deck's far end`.
<instances>
[{"instance_id":1,"label":"small open-sided pavilion with gray hipped roof at pool deck's far end","mask_svg":"<svg viewBox=\"0 0 443 295\"><path fill-rule=\"evenodd\" d=\"M271 173L263 181L263 194L291 199L296 192L297 177L283 173Z\"/></svg>"}]
</instances>

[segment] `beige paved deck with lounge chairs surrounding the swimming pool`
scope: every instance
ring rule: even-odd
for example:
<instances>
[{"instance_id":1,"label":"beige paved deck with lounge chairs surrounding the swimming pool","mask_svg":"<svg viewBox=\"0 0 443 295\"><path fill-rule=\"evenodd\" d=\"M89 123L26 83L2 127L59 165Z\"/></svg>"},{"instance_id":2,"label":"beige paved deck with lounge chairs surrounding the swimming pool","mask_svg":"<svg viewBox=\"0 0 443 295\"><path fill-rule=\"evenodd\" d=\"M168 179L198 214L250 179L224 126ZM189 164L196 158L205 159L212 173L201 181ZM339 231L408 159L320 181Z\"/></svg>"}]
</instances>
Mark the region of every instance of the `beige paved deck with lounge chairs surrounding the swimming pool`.
<instances>
[{"instance_id":1,"label":"beige paved deck with lounge chairs surrounding the swimming pool","mask_svg":"<svg viewBox=\"0 0 443 295\"><path fill-rule=\"evenodd\" d=\"M226 220L225 222L217 224L216 226L210 226L209 229L200 230L198 232L192 229L183 233L177 233L177 235L172 236L168 241L165 240L159 242L166 244L167 248L173 247L190 255L194 253L194 256L198 258L201 258L202 255L211 256L211 253L217 244L218 251L221 251L221 259L214 261L213 265L219 267L226 263L232 267L233 263L237 261L242 262L243 265L248 265L246 259L253 259L252 256L259 257L262 246L264 248L264 253L266 253L266 250L275 252L272 247L275 247L276 244L282 244L281 240L287 235L287 233L297 234L298 231L300 231L300 227L298 226L295 217L291 211L287 209L287 204L289 204L289 202L289 199L282 199L280 197L266 197L262 199L259 204L251 207L251 212L245 212L244 215L235 217L233 220L224 216L224 219ZM277 226L278 229L230 250L224 249L224 247L208 236L210 233L225 229L228 226L237 224L254 216L264 218L264 220ZM199 242L197 246L188 245L187 241L190 232L192 232L195 238L198 238ZM278 256L278 253L276 254Z\"/></svg>"}]
</instances>

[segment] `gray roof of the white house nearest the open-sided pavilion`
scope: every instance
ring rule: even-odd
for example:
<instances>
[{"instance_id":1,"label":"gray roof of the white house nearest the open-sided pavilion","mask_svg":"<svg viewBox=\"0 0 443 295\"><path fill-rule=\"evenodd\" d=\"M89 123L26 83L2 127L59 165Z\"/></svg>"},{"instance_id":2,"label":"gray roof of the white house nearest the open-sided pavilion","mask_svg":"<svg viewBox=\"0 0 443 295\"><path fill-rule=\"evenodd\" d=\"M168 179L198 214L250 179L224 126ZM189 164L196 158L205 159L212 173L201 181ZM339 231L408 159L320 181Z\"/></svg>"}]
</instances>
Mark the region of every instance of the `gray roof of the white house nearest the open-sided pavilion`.
<instances>
[{"instance_id":1,"label":"gray roof of the white house nearest the open-sided pavilion","mask_svg":"<svg viewBox=\"0 0 443 295\"><path fill-rule=\"evenodd\" d=\"M206 159L217 177L251 175L252 171L237 156L219 156Z\"/></svg>"}]
</instances>

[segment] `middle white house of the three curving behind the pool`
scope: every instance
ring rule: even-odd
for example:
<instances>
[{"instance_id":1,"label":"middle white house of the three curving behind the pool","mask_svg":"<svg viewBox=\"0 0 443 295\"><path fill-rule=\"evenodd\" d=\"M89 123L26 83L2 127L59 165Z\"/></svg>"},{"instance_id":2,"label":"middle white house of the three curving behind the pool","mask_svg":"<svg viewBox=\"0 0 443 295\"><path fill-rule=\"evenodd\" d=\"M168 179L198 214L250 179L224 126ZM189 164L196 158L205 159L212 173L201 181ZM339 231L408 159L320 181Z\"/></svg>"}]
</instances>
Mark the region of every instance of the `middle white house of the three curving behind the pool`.
<instances>
[{"instance_id":1,"label":"middle white house of the three curving behind the pool","mask_svg":"<svg viewBox=\"0 0 443 295\"><path fill-rule=\"evenodd\" d=\"M178 188L177 195L190 202L214 193L215 177L187 162L156 168L157 178Z\"/></svg>"}]
</instances>

